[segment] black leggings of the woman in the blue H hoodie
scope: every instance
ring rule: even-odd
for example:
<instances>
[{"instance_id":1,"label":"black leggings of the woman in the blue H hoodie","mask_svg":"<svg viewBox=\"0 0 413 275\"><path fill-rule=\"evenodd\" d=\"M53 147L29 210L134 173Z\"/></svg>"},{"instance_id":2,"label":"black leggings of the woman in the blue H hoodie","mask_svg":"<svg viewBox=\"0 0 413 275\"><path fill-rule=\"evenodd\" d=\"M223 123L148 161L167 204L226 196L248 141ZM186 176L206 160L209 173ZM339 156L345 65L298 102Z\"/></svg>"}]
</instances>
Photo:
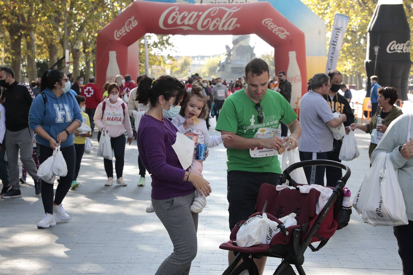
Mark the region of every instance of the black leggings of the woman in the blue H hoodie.
<instances>
[{"instance_id":1,"label":"black leggings of the woman in the blue H hoodie","mask_svg":"<svg viewBox=\"0 0 413 275\"><path fill-rule=\"evenodd\" d=\"M53 149L49 146L40 146L39 161L42 164L48 157L53 155ZM53 214L53 202L61 204L71 186L75 170L75 147L73 145L60 148L67 166L67 175L60 177L60 183L57 184L55 200L53 201L53 184L42 180L42 201L45 213Z\"/></svg>"}]
</instances>

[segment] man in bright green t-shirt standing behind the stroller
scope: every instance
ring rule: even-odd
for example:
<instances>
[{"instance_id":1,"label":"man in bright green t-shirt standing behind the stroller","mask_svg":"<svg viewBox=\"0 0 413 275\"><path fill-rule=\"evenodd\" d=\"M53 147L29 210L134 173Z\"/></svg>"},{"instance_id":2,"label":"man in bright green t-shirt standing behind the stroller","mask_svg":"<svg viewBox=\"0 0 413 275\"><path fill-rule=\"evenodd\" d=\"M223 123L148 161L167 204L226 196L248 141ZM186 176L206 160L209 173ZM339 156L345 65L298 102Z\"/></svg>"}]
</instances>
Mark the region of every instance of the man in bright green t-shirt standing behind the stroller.
<instances>
[{"instance_id":1,"label":"man in bright green t-shirt standing behind the stroller","mask_svg":"<svg viewBox=\"0 0 413 275\"><path fill-rule=\"evenodd\" d=\"M221 109L216 130L230 134L224 142L228 156L229 225L248 219L262 183L276 184L281 175L278 150L297 147L301 126L290 103L278 92L267 89L271 74L265 61L254 58L245 67L247 87L229 96ZM290 136L280 138L278 125L284 123ZM269 138L266 138L270 136ZM231 262L234 254L229 251ZM266 257L254 259L262 274Z\"/></svg>"}]
</instances>

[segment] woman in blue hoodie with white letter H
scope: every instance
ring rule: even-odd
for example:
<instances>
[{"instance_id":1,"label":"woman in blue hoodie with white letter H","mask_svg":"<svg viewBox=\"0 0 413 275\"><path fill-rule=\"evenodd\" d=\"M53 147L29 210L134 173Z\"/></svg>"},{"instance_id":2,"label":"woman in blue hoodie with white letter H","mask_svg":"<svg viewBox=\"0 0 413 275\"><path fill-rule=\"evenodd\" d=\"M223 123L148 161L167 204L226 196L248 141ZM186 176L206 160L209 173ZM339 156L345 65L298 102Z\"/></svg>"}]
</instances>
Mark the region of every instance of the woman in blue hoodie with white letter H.
<instances>
[{"instance_id":1,"label":"woman in blue hoodie with white letter H","mask_svg":"<svg viewBox=\"0 0 413 275\"><path fill-rule=\"evenodd\" d=\"M53 200L53 184L44 181L42 184L45 216L37 226L47 228L56 225L54 216L64 221L70 219L62 207L62 201L69 191L74 176L73 133L82 124L82 115L75 97L69 92L69 78L62 71L45 71L40 90L42 92L33 99L28 115L29 127L36 133L36 142L40 143L40 164L60 145L60 151L67 165L67 175L60 177L55 200Z\"/></svg>"}]
</instances>

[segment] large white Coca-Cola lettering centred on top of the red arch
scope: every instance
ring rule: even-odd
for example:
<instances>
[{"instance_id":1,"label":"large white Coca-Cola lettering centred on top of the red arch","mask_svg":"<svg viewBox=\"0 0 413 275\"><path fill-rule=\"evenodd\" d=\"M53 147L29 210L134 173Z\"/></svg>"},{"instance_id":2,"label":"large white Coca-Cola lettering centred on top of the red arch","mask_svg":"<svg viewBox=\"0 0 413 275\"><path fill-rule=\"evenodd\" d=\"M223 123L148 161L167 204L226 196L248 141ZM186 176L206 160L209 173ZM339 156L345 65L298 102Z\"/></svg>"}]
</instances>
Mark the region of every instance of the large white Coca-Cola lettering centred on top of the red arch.
<instances>
[{"instance_id":1,"label":"large white Coca-Cola lettering centred on top of the red arch","mask_svg":"<svg viewBox=\"0 0 413 275\"><path fill-rule=\"evenodd\" d=\"M231 31L234 28L240 27L237 23L237 17L232 17L233 14L239 11L240 7L211 7L205 12L179 12L178 6L173 6L166 9L159 18L159 27L164 30L181 28L183 30L192 30L197 28L198 31ZM216 15L220 10L224 10L225 14L222 17ZM195 23L196 26L195 26ZM178 25L178 26L174 26ZM182 26L183 25L183 26Z\"/></svg>"}]
</instances>

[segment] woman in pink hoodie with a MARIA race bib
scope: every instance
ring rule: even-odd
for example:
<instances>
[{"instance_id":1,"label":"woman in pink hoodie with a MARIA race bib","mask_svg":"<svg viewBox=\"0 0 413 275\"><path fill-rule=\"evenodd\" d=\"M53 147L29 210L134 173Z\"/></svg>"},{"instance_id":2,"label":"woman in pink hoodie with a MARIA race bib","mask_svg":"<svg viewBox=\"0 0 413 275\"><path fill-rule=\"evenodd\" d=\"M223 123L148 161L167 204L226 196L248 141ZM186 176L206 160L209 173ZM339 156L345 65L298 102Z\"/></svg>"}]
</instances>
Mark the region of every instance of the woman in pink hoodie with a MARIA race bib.
<instances>
[{"instance_id":1,"label":"woman in pink hoodie with a MARIA race bib","mask_svg":"<svg viewBox=\"0 0 413 275\"><path fill-rule=\"evenodd\" d=\"M97 134L97 141L100 139L102 131L106 131L110 136L110 143L116 158L115 171L116 183L120 186L127 186L122 179L123 163L125 159L126 139L125 131L128 132L128 142L131 145L133 132L131 127L131 120L128 115L128 106L119 97L119 86L116 83L111 83L108 90L108 97L99 103L96 108L93 121L99 129ZM113 164L112 160L103 159L104 169L107 175L107 182L105 186L111 186L113 183Z\"/></svg>"}]
</instances>

